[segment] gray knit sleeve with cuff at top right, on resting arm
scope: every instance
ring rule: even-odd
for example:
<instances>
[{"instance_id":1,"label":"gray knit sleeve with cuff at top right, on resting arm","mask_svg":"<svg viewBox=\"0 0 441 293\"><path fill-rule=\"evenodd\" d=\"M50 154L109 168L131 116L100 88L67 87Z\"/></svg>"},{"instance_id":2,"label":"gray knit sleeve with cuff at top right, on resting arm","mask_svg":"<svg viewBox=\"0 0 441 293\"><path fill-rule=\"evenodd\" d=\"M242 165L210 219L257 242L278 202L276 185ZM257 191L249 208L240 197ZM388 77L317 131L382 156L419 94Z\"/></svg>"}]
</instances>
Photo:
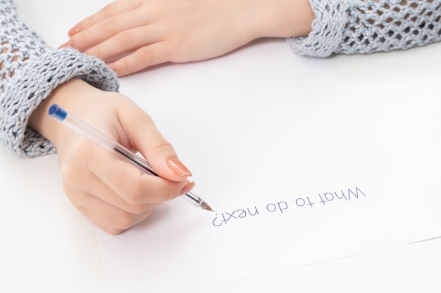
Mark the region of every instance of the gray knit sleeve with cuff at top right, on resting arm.
<instances>
[{"instance_id":1,"label":"gray knit sleeve with cuff at top right, on resting arm","mask_svg":"<svg viewBox=\"0 0 441 293\"><path fill-rule=\"evenodd\" d=\"M441 0L309 0L316 15L308 37L287 39L294 52L374 53L441 40Z\"/></svg>"}]
</instances>

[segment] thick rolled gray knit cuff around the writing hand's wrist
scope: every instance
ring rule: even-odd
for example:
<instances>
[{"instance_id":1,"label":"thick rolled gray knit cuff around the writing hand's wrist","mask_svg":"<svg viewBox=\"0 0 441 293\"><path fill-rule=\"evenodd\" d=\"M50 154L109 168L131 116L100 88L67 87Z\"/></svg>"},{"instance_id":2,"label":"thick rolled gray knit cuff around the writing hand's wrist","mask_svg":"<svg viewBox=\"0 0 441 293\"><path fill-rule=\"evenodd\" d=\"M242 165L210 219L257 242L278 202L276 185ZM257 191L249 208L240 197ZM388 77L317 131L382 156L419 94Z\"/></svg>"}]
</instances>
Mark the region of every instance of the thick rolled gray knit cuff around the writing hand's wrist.
<instances>
[{"instance_id":1,"label":"thick rolled gray knit cuff around the writing hand's wrist","mask_svg":"<svg viewBox=\"0 0 441 293\"><path fill-rule=\"evenodd\" d=\"M5 84L0 101L0 141L11 152L35 157L55 152L55 146L27 126L32 111L58 85L73 77L103 91L118 91L116 74L106 64L75 49L50 51L29 60Z\"/></svg>"}]
</instances>

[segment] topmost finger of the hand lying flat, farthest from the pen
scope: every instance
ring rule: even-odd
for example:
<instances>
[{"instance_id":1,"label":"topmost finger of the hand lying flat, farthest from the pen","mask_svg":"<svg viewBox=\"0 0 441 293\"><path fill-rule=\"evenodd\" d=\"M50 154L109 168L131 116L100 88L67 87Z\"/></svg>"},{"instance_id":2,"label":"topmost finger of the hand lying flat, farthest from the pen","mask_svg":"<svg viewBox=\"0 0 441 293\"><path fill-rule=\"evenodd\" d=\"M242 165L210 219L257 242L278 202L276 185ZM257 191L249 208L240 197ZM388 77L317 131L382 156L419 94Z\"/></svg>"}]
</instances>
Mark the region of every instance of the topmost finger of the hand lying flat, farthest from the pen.
<instances>
[{"instance_id":1,"label":"topmost finger of the hand lying flat, farthest from the pen","mask_svg":"<svg viewBox=\"0 0 441 293\"><path fill-rule=\"evenodd\" d=\"M103 20L106 20L121 13L125 13L127 11L134 10L141 6L141 4L141 0L125 0L112 2L111 4L104 6L104 8L101 8L97 13L94 13L88 18L85 18L84 20L78 22L77 25L73 26L69 30L68 36L73 37L78 32L87 30L87 28L92 27L93 25L96 25Z\"/></svg>"}]
</instances>

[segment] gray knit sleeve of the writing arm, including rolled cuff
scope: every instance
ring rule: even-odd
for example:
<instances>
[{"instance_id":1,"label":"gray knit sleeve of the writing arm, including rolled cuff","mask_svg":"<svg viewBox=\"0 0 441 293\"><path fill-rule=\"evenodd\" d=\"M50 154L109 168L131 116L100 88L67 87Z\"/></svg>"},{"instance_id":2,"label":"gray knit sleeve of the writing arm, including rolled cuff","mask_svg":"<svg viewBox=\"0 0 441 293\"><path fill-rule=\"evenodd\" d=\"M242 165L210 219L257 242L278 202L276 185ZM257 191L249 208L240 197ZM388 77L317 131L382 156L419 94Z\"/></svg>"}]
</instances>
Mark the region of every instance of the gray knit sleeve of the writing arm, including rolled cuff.
<instances>
[{"instance_id":1,"label":"gray knit sleeve of the writing arm, including rolled cuff","mask_svg":"<svg viewBox=\"0 0 441 293\"><path fill-rule=\"evenodd\" d=\"M0 0L0 143L23 157L55 152L27 121L56 86L74 77L118 91L116 75L101 60L50 48L18 18L12 1Z\"/></svg>"}]
</instances>

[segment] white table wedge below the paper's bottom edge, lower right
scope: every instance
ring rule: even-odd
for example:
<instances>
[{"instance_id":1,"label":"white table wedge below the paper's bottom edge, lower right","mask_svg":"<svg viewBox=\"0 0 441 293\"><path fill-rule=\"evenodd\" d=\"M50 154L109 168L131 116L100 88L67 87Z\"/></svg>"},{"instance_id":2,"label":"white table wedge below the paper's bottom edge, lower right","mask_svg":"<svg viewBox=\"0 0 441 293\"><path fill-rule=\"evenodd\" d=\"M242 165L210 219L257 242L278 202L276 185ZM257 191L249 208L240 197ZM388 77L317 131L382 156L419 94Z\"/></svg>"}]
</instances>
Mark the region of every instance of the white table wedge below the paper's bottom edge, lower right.
<instances>
[{"instance_id":1,"label":"white table wedge below the paper's bottom edge, lower right","mask_svg":"<svg viewBox=\"0 0 441 293\"><path fill-rule=\"evenodd\" d=\"M187 293L440 292L440 245L437 238Z\"/></svg>"}]
</instances>

